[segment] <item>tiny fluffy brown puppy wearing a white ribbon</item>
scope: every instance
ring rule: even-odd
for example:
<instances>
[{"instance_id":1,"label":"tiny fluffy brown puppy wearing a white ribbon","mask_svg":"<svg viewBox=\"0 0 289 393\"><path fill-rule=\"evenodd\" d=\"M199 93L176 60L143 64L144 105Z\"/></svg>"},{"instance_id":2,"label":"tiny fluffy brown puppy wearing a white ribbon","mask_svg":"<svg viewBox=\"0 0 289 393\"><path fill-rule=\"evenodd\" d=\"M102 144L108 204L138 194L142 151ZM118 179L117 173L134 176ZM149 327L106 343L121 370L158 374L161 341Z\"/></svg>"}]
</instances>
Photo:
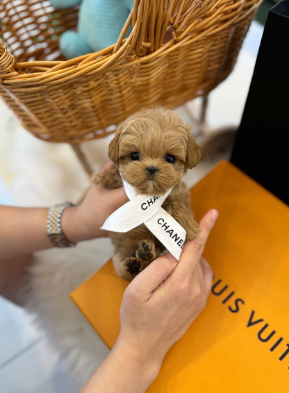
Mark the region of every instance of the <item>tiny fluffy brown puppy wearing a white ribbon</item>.
<instances>
[{"instance_id":1,"label":"tiny fluffy brown puppy wearing a white ribbon","mask_svg":"<svg viewBox=\"0 0 289 393\"><path fill-rule=\"evenodd\" d=\"M187 240L195 238L198 225L181 177L201 159L201 149L189 130L172 110L138 112L117 127L110 142L108 156L116 167L93 178L95 184L108 188L121 187L123 178L138 194L149 196L172 188L162 207L185 228ZM129 281L165 251L145 224L126 233L110 233L110 237L115 244L115 271Z\"/></svg>"}]
</instances>

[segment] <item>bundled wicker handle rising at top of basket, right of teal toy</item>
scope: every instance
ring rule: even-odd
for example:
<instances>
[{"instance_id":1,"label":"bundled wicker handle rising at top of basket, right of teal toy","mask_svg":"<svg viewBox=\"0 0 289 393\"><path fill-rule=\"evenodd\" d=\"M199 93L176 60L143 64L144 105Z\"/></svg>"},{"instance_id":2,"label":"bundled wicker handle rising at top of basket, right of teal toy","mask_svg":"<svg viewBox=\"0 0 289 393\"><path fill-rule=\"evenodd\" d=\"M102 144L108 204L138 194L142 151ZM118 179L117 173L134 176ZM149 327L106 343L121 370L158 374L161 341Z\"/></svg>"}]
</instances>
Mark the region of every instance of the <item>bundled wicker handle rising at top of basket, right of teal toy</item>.
<instances>
[{"instance_id":1,"label":"bundled wicker handle rising at top of basket, right of teal toy","mask_svg":"<svg viewBox=\"0 0 289 393\"><path fill-rule=\"evenodd\" d=\"M162 46L165 34L179 27L191 6L188 0L135 0L113 53L121 48L130 24L133 28L125 40L126 50L134 51L136 56L153 53Z\"/></svg>"}]
</instances>

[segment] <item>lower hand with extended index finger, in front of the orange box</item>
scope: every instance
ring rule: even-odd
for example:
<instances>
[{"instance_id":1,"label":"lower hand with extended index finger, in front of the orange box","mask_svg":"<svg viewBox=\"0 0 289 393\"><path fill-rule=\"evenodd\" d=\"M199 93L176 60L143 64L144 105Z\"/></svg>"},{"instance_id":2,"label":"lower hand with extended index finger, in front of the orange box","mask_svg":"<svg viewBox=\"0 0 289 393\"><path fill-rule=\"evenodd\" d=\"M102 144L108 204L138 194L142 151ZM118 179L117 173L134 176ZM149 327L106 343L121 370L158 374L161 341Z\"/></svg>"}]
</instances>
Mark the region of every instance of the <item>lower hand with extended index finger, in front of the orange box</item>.
<instances>
[{"instance_id":1,"label":"lower hand with extended index finger, in front of the orange box","mask_svg":"<svg viewBox=\"0 0 289 393\"><path fill-rule=\"evenodd\" d=\"M160 256L124 292L115 346L123 346L142 367L154 365L155 376L165 353L206 306L213 271L201 254L216 219L217 210L208 211L179 262L170 254Z\"/></svg>"}]
</instances>

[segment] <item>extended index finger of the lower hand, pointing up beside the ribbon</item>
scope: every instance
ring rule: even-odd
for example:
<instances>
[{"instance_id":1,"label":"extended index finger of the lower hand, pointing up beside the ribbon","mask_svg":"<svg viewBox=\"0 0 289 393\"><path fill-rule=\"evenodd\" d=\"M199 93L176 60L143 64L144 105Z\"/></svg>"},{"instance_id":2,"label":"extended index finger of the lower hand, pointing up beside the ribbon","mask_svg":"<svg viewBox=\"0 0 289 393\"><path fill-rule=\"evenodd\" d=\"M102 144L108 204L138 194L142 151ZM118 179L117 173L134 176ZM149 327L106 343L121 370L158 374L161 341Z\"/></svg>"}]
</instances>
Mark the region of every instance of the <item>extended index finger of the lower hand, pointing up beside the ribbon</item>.
<instances>
[{"instance_id":1,"label":"extended index finger of the lower hand, pointing up beside the ribbon","mask_svg":"<svg viewBox=\"0 0 289 393\"><path fill-rule=\"evenodd\" d=\"M188 274L193 273L204 251L208 235L215 224L217 216L217 210L209 210L201 221L199 221L199 233L197 237L194 240L185 242L179 265L176 267L177 274L174 275L177 279L185 278Z\"/></svg>"}]
</instances>

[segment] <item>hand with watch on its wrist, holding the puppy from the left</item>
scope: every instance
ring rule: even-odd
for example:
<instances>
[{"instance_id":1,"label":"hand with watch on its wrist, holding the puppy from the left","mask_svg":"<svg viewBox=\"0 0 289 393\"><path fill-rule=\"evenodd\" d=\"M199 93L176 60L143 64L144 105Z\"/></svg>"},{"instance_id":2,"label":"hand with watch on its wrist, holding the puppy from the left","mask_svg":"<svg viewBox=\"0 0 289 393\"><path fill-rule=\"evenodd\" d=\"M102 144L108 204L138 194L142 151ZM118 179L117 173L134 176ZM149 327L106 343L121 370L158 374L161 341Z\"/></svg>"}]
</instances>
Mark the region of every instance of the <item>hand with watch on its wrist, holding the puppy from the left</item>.
<instances>
[{"instance_id":1,"label":"hand with watch on its wrist, holding the puppy from the left","mask_svg":"<svg viewBox=\"0 0 289 393\"><path fill-rule=\"evenodd\" d=\"M112 161L107 161L99 170L104 172L115 167ZM99 185L90 185L83 201L78 206L72 206L63 212L63 231L72 242L90 240L95 237L107 237L107 231L101 231L104 221L117 208L129 201L124 187L108 189Z\"/></svg>"}]
</instances>

